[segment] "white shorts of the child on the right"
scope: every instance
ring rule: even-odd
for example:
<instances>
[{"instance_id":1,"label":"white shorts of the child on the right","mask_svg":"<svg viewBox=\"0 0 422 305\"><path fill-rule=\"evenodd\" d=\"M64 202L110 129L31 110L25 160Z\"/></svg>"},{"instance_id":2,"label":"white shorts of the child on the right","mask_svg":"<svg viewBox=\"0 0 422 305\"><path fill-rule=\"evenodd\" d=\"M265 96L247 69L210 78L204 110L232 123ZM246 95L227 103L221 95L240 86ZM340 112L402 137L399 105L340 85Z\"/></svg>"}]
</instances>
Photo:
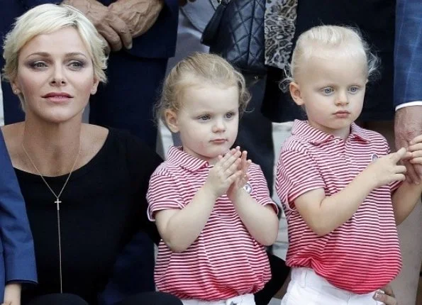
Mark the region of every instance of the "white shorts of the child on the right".
<instances>
[{"instance_id":1,"label":"white shorts of the child on the right","mask_svg":"<svg viewBox=\"0 0 422 305\"><path fill-rule=\"evenodd\" d=\"M382 305L372 299L375 292L354 294L334 287L309 268L292 268L291 282L282 305Z\"/></svg>"}]
</instances>

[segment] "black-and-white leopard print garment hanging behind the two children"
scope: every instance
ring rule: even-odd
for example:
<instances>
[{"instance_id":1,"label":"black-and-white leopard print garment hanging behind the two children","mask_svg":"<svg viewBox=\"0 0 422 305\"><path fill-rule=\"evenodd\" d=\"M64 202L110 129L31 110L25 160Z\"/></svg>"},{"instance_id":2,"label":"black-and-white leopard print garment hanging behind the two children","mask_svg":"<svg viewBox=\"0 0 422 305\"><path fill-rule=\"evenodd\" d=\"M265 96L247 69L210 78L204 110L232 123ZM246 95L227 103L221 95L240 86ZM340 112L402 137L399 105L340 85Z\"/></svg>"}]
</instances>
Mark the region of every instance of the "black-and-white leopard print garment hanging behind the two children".
<instances>
[{"instance_id":1,"label":"black-and-white leopard print garment hanging behind the two children","mask_svg":"<svg viewBox=\"0 0 422 305\"><path fill-rule=\"evenodd\" d=\"M298 0L267 0L265 4L265 65L284 69L296 28Z\"/></svg>"}]
</instances>

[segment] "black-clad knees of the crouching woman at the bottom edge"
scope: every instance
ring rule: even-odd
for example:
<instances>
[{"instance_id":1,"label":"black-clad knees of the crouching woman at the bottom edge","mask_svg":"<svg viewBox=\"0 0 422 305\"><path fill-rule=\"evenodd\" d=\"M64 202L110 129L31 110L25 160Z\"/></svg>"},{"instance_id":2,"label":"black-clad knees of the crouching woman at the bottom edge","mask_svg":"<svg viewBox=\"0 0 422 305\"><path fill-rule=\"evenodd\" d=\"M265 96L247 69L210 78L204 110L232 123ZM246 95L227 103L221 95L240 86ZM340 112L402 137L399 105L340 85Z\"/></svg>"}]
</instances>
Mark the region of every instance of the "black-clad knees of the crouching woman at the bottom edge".
<instances>
[{"instance_id":1,"label":"black-clad knees of the crouching woman at the bottom edge","mask_svg":"<svg viewBox=\"0 0 422 305\"><path fill-rule=\"evenodd\" d=\"M115 305L182 305L182 301L163 292L143 292L128 297ZM75 294L46 294L38 296L27 305L89 305Z\"/></svg>"}]
</instances>

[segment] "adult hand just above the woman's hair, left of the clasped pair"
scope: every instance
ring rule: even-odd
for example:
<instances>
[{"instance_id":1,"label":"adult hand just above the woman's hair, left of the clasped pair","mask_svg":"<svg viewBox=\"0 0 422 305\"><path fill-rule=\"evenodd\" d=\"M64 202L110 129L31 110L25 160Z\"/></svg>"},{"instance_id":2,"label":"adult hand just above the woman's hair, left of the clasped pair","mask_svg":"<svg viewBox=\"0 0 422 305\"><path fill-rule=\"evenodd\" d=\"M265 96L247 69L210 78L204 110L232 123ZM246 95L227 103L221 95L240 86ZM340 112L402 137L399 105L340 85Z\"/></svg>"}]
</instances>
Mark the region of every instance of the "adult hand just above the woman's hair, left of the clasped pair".
<instances>
[{"instance_id":1,"label":"adult hand just above the woman's hair, left of the clasped pair","mask_svg":"<svg viewBox=\"0 0 422 305\"><path fill-rule=\"evenodd\" d=\"M96 30L105 38L111 50L132 48L132 35L125 21L109 11L107 6L96 0L64 0L63 4L74 6L94 23Z\"/></svg>"}]
</instances>

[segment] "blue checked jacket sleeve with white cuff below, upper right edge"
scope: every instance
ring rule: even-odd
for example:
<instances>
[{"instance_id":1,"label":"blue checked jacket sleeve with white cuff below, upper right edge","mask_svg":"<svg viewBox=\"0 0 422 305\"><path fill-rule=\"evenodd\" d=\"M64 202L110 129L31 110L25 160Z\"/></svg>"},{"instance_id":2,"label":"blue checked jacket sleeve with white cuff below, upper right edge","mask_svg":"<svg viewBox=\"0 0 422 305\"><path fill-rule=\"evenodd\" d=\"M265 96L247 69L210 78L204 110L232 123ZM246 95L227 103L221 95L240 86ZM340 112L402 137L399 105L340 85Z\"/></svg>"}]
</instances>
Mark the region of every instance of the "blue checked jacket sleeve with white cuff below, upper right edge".
<instances>
[{"instance_id":1,"label":"blue checked jacket sleeve with white cuff below, upper right edge","mask_svg":"<svg viewBox=\"0 0 422 305\"><path fill-rule=\"evenodd\" d=\"M396 1L394 106L422 101L422 1Z\"/></svg>"}]
</instances>

